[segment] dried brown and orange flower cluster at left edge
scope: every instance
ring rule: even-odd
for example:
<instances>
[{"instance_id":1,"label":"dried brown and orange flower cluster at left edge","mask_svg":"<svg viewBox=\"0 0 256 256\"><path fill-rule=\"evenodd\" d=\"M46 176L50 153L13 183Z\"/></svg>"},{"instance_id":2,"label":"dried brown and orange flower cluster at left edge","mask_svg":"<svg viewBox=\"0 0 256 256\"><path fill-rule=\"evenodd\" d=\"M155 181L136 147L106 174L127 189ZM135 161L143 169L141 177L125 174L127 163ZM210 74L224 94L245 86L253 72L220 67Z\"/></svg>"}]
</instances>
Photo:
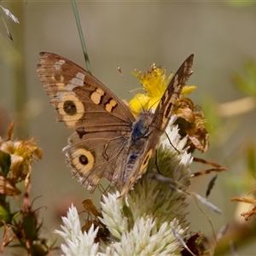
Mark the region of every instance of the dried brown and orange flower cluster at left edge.
<instances>
[{"instance_id":1,"label":"dried brown and orange flower cluster at left edge","mask_svg":"<svg viewBox=\"0 0 256 256\"><path fill-rule=\"evenodd\" d=\"M55 249L54 244L47 246L47 239L41 238L43 222L29 200L31 164L42 158L42 150L33 139L12 141L13 130L14 123L9 127L8 137L0 137L0 226L4 229L0 252L10 246L24 248L29 256L47 255ZM24 183L25 192L16 187L18 183ZM17 198L20 194L20 210L11 209L9 196Z\"/></svg>"}]
</instances>

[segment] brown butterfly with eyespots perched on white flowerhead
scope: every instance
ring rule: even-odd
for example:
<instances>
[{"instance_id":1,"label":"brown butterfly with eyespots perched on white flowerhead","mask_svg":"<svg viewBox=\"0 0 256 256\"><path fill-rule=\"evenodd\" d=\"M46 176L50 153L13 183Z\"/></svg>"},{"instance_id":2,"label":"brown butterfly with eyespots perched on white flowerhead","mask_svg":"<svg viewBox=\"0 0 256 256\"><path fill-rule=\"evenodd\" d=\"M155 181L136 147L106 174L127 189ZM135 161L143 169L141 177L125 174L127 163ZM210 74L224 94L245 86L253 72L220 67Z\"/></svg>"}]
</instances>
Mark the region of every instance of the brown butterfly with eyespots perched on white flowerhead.
<instances>
[{"instance_id":1,"label":"brown butterfly with eyespots perched on white flowerhead","mask_svg":"<svg viewBox=\"0 0 256 256\"><path fill-rule=\"evenodd\" d=\"M90 193L105 177L123 197L143 175L192 73L193 57L172 77L154 113L144 110L135 118L125 102L84 68L60 55L40 53L38 77L57 120L75 130L63 148L67 166Z\"/></svg>"}]
</instances>

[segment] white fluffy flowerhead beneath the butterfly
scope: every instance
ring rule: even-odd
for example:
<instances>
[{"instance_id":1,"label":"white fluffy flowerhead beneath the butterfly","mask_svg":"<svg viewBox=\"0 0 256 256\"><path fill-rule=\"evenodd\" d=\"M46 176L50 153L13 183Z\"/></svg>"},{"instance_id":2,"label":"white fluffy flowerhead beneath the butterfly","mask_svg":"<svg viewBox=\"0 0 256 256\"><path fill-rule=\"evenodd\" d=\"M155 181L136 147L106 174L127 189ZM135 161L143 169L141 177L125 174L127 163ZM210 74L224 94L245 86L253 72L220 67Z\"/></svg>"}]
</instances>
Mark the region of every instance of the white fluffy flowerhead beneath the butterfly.
<instances>
[{"instance_id":1,"label":"white fluffy flowerhead beneath the butterfly","mask_svg":"<svg viewBox=\"0 0 256 256\"><path fill-rule=\"evenodd\" d=\"M102 217L98 219L109 230L107 240L95 241L98 227L95 229L93 225L82 232L78 212L70 208L67 218L62 218L62 231L56 231L64 238L61 249L65 255L176 255L180 252L181 244L172 230L180 237L186 236L189 225L185 220L184 196L152 178L152 174L171 177L187 187L191 157L183 148L186 139L180 139L177 126L171 126L167 135L160 139L147 172L124 199L118 199L116 191L102 196Z\"/></svg>"}]
</instances>

